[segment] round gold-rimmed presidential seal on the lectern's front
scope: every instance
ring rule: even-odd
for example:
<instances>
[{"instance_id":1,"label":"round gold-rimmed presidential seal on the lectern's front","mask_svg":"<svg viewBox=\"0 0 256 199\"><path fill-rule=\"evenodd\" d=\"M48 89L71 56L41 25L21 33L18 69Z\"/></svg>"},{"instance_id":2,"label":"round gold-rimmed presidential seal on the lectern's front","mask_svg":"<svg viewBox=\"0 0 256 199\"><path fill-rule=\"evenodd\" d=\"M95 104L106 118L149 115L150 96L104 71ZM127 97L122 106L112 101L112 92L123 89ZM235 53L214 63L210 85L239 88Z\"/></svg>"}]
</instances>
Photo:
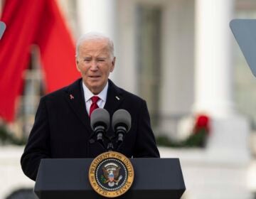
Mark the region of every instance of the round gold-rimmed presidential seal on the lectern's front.
<instances>
[{"instance_id":1,"label":"round gold-rimmed presidential seal on the lectern's front","mask_svg":"<svg viewBox=\"0 0 256 199\"><path fill-rule=\"evenodd\" d=\"M114 198L129 190L134 180L134 169L129 158L114 151L97 156L89 168L89 181L100 195Z\"/></svg>"}]
</instances>

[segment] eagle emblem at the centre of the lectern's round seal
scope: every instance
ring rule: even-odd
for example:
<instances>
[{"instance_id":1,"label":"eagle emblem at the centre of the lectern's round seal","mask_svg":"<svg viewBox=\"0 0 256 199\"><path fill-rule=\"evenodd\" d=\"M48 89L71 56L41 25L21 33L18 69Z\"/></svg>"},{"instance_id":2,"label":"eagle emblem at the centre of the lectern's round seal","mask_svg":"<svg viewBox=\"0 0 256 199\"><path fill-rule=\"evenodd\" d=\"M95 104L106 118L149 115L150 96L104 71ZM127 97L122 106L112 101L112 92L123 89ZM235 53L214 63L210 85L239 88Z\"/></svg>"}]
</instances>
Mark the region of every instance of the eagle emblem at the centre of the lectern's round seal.
<instances>
[{"instance_id":1,"label":"eagle emblem at the centre of the lectern's round seal","mask_svg":"<svg viewBox=\"0 0 256 199\"><path fill-rule=\"evenodd\" d=\"M122 179L122 175L119 176L120 166L116 163L107 163L102 167L103 176L101 177L102 183L107 183L110 187L118 185Z\"/></svg>"}]
</instances>

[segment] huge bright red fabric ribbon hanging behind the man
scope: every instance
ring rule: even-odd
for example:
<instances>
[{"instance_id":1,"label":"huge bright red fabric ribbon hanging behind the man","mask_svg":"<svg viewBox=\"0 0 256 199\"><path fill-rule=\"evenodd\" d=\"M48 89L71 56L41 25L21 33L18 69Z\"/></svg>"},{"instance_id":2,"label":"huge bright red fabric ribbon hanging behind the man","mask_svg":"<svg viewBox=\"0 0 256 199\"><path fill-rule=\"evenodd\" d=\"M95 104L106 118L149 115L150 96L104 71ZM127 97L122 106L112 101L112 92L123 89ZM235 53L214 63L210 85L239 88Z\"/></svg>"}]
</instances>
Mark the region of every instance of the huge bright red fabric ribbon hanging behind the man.
<instances>
[{"instance_id":1,"label":"huge bright red fabric ribbon hanging behind the man","mask_svg":"<svg viewBox=\"0 0 256 199\"><path fill-rule=\"evenodd\" d=\"M6 31L0 40L0 117L10 122L32 44L41 52L47 92L68 85L79 73L75 45L55 1L8 0L1 21L6 23Z\"/></svg>"}]
</instances>

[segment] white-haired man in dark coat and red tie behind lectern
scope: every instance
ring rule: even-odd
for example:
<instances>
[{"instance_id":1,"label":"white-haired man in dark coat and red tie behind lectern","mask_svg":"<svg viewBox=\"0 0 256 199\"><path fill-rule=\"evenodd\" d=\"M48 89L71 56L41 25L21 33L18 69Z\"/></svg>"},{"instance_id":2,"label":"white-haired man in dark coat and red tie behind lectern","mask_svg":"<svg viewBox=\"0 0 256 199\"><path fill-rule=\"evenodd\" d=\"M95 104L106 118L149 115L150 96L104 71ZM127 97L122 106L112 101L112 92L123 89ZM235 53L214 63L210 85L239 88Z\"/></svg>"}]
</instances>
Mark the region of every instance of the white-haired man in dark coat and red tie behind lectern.
<instances>
[{"instance_id":1,"label":"white-haired man in dark coat and red tie behind lectern","mask_svg":"<svg viewBox=\"0 0 256 199\"><path fill-rule=\"evenodd\" d=\"M131 114L132 127L120 153L129 158L159 157L146 102L108 79L115 63L112 41L87 33L78 40L75 57L82 78L41 98L21 156L23 172L34 181L41 158L95 158L105 152L90 128L93 107L107 109L110 116L117 109ZM113 135L111 129L107 134Z\"/></svg>"}]
</instances>

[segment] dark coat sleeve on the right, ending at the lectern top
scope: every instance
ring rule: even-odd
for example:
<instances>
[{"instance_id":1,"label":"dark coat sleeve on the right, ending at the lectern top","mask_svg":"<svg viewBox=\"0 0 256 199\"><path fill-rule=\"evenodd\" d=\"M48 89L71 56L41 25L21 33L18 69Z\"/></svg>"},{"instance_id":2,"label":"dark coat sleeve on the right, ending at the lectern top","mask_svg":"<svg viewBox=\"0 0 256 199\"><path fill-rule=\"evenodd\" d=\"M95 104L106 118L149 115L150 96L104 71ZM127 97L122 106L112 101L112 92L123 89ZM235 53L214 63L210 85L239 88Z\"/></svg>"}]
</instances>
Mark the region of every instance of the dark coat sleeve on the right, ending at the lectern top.
<instances>
[{"instance_id":1,"label":"dark coat sleeve on the right, ending at the lectern top","mask_svg":"<svg viewBox=\"0 0 256 199\"><path fill-rule=\"evenodd\" d=\"M151 129L149 111L144 100L139 110L139 123L137 128L134 158L159 158L159 150L156 147L156 140Z\"/></svg>"}]
</instances>

